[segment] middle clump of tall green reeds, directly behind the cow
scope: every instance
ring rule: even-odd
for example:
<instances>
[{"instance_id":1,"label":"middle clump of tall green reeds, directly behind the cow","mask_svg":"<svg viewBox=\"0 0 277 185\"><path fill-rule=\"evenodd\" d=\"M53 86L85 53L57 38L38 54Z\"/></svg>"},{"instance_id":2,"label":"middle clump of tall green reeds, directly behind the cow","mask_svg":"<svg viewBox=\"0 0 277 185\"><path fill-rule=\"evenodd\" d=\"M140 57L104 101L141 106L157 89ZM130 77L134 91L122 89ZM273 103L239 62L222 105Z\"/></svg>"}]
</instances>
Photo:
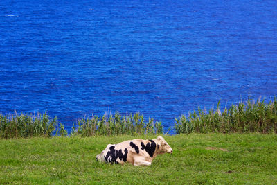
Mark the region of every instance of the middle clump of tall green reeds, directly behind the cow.
<instances>
[{"instance_id":1,"label":"middle clump of tall green reeds, directly behind the cow","mask_svg":"<svg viewBox=\"0 0 277 185\"><path fill-rule=\"evenodd\" d=\"M139 112L122 116L118 113L113 115L92 116L81 118L73 125L71 135L94 136L94 135L117 135L117 134L163 134L161 122L149 118L145 121Z\"/></svg>"}]
</instances>

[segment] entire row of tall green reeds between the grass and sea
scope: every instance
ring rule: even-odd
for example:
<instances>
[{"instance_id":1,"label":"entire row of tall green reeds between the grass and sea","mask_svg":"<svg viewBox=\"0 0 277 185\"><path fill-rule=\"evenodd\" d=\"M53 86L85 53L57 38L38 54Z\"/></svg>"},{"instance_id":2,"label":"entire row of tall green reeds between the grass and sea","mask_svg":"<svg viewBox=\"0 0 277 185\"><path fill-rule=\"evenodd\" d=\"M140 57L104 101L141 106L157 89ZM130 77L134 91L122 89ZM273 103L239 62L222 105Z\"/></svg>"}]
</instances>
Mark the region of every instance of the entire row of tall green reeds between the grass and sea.
<instances>
[{"instance_id":1,"label":"entire row of tall green reeds between the grass and sea","mask_svg":"<svg viewBox=\"0 0 277 185\"><path fill-rule=\"evenodd\" d=\"M176 134L189 133L277 133L277 98L265 103L265 100L251 100L221 109L220 101L216 109L198 109L188 116L172 119ZM0 138L20 138L53 135L95 136L95 135L140 135L166 134L160 121L145 119L139 112L126 116L91 116L80 118L73 124L68 134L57 117L44 114L0 114Z\"/></svg>"}]
</instances>

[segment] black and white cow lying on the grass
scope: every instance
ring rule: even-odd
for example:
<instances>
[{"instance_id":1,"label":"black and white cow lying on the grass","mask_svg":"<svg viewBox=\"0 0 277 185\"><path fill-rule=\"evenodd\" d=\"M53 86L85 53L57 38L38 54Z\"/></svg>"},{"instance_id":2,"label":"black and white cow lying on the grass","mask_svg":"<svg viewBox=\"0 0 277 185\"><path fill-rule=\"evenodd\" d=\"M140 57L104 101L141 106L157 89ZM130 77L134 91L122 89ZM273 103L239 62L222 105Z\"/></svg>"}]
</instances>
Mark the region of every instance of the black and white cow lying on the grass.
<instances>
[{"instance_id":1,"label":"black and white cow lying on the grass","mask_svg":"<svg viewBox=\"0 0 277 185\"><path fill-rule=\"evenodd\" d=\"M150 166L157 155L164 153L172 154L172 148L162 136L158 136L157 139L133 139L116 145L108 144L105 150L96 155L96 160L110 164Z\"/></svg>"}]
</instances>

